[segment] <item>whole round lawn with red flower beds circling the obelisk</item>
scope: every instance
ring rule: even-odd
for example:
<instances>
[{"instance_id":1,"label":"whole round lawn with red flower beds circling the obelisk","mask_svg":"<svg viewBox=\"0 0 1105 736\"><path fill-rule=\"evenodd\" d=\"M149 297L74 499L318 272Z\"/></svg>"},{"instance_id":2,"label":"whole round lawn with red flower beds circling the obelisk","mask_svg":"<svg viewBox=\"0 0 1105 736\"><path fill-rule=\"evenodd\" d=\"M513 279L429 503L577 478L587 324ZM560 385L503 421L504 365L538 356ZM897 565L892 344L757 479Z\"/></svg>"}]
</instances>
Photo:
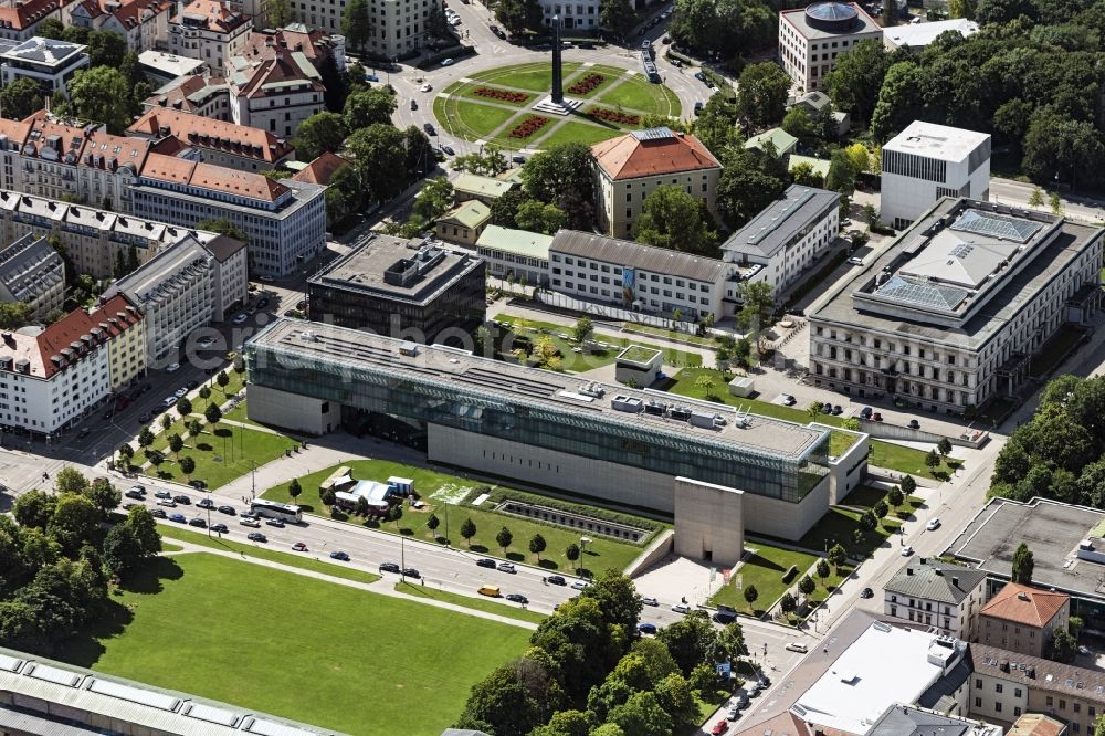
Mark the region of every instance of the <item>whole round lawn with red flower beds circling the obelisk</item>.
<instances>
[{"instance_id":1,"label":"whole round lawn with red flower beds circling the obelisk","mask_svg":"<svg viewBox=\"0 0 1105 736\"><path fill-rule=\"evenodd\" d=\"M549 109L552 63L478 72L446 86L433 102L441 127L459 138L504 149L587 145L642 127L646 116L678 117L678 97L636 70L568 62L564 96L573 109Z\"/></svg>"}]
</instances>

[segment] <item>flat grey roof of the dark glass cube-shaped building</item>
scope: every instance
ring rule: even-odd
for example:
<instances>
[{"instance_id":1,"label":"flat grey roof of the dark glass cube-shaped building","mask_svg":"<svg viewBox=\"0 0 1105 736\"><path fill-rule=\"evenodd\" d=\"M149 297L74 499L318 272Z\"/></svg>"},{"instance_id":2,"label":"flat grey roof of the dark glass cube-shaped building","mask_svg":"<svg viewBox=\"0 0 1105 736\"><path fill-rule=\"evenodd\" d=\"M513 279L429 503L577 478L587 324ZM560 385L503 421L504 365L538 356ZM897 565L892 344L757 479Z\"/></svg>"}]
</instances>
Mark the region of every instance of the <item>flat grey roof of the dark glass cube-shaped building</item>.
<instances>
[{"instance_id":1,"label":"flat grey roof of the dark glass cube-shaped building","mask_svg":"<svg viewBox=\"0 0 1105 736\"><path fill-rule=\"evenodd\" d=\"M308 283L427 304L483 263L431 239L376 234Z\"/></svg>"}]
</instances>

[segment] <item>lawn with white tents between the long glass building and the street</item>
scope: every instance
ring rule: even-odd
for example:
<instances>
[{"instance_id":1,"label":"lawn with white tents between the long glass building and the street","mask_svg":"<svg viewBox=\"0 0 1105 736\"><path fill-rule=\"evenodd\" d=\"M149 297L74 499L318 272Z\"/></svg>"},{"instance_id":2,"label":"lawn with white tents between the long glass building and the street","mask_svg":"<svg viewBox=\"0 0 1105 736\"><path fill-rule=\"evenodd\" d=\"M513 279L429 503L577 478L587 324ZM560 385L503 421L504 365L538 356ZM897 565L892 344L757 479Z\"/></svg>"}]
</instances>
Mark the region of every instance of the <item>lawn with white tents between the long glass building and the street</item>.
<instances>
[{"instance_id":1,"label":"lawn with white tents between the long glass building and the street","mask_svg":"<svg viewBox=\"0 0 1105 736\"><path fill-rule=\"evenodd\" d=\"M471 490L480 484L455 475L386 460L357 460L345 464L352 469L352 475L357 480L387 481L388 477L398 475L414 481L414 488L421 495L422 501L425 502L425 508L414 511L406 507L403 509L403 517L399 521L399 524L397 525L393 522L379 524L378 528L381 532L389 534L401 533L418 537L419 539L432 540L434 535L427 528L425 519L433 513L441 521L436 536L440 539L448 538L455 547L471 548L473 551L480 554L486 553L503 556L517 562L539 564L549 570L567 574L573 572L573 566L565 558L564 551L569 544L579 542L580 534L578 529L552 526L517 516L499 514L492 511L490 506L474 507L457 505L461 498L469 495ZM338 465L334 465L333 467L299 479L303 493L296 500L296 503L304 511L308 513L327 513L326 507L318 497L318 485L337 467ZM286 483L269 488L262 496L273 501L292 503L292 497L287 495ZM446 500L449 500L448 503ZM465 518L471 518L473 524L476 525L475 536L467 542L461 537L461 525ZM357 519L357 517L352 517L352 519ZM371 521L366 522L366 524L373 527L377 526L377 523ZM495 535L504 526L509 528L514 535L514 542L506 549L505 555L504 550L495 542ZM540 561L538 561L536 555L529 551L529 539L535 534L540 534L547 544L545 553L540 556ZM581 560L583 568L591 572L601 572L611 567L622 570L643 549L638 545L607 539L599 535L592 535L591 538L593 542L587 545L585 557Z\"/></svg>"}]
</instances>

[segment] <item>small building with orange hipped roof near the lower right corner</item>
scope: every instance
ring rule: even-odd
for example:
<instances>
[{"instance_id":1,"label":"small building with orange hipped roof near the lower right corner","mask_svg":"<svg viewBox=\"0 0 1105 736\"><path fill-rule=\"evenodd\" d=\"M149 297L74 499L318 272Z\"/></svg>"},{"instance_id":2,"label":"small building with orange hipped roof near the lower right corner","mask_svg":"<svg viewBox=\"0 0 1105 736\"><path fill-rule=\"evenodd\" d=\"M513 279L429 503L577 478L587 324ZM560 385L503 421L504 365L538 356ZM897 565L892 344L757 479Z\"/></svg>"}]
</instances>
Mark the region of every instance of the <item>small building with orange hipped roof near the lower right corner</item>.
<instances>
[{"instance_id":1,"label":"small building with orange hipped roof near the lower right corner","mask_svg":"<svg viewBox=\"0 0 1105 736\"><path fill-rule=\"evenodd\" d=\"M978 614L978 641L1011 652L1043 656L1056 630L1066 630L1071 597L1007 582Z\"/></svg>"}]
</instances>

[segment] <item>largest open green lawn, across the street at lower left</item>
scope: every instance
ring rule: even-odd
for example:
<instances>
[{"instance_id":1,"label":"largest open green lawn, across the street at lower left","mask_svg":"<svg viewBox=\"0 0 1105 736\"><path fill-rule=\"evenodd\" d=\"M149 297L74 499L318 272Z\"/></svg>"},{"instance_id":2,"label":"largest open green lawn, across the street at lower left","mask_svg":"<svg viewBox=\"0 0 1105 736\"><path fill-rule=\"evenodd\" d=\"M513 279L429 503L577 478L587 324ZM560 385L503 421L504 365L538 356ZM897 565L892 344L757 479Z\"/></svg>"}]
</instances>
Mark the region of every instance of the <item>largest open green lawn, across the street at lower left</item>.
<instances>
[{"instance_id":1,"label":"largest open green lawn, across the street at lower left","mask_svg":"<svg viewBox=\"0 0 1105 736\"><path fill-rule=\"evenodd\" d=\"M154 569L61 658L323 728L436 736L529 638L214 555L158 558Z\"/></svg>"}]
</instances>

